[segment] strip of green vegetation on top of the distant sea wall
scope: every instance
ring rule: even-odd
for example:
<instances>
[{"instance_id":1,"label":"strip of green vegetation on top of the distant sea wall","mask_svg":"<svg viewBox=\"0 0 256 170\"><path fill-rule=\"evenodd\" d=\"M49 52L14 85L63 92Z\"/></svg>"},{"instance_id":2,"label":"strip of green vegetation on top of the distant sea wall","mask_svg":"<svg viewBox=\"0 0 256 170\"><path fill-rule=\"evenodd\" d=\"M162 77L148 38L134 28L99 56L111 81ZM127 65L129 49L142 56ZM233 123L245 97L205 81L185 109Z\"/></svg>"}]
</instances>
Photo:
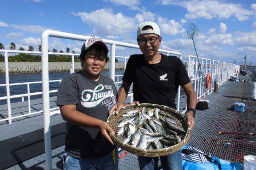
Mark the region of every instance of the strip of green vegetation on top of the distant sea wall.
<instances>
[{"instance_id":1,"label":"strip of green vegetation on top of the distant sea wall","mask_svg":"<svg viewBox=\"0 0 256 170\"><path fill-rule=\"evenodd\" d=\"M71 56L59 56L59 55L52 55L49 54L49 62L71 62ZM5 61L5 56L0 54L0 62ZM39 55L32 55L32 54L18 54L16 56L9 56L9 62L40 62L41 56ZM80 62L79 56L75 56L75 62ZM109 58L108 58L109 62ZM115 62L118 62L117 58L115 58Z\"/></svg>"}]
</instances>

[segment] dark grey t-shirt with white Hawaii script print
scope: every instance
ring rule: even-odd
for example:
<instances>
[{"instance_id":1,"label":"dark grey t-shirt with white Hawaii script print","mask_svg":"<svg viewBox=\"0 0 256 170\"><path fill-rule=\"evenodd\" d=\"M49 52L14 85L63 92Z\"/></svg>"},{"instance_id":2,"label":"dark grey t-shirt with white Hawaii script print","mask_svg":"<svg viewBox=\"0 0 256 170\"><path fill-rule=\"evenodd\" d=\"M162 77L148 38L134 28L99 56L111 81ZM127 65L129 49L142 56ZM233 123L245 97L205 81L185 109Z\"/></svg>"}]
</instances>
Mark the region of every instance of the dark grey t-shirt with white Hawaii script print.
<instances>
[{"instance_id":1,"label":"dark grey t-shirt with white Hawaii script print","mask_svg":"<svg viewBox=\"0 0 256 170\"><path fill-rule=\"evenodd\" d=\"M100 75L100 79L86 78L81 72L61 80L57 92L57 105L76 104L77 111L106 121L109 109L116 103L117 89L112 79ZM114 149L97 128L67 123L65 151L75 158L101 158Z\"/></svg>"}]
</instances>

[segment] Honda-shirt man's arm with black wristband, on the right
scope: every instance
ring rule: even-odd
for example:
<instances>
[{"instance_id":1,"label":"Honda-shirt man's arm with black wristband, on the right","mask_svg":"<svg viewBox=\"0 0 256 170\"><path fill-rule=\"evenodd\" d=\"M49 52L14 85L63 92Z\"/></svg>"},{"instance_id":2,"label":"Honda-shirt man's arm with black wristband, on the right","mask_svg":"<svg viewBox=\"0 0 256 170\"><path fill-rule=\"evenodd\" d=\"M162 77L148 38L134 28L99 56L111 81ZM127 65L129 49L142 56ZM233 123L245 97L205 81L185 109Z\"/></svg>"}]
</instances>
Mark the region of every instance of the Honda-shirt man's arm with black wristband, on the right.
<instances>
[{"instance_id":1,"label":"Honda-shirt man's arm with black wristband, on the right","mask_svg":"<svg viewBox=\"0 0 256 170\"><path fill-rule=\"evenodd\" d=\"M196 108L196 92L195 92L191 82L189 82L188 84L185 84L184 86L182 86L182 88L185 91L185 94L187 95L188 108L195 109ZM195 120L194 120L193 115L194 114L192 111L188 111L188 113L186 114L187 123L191 130L193 129L193 127L195 125Z\"/></svg>"}]
</instances>

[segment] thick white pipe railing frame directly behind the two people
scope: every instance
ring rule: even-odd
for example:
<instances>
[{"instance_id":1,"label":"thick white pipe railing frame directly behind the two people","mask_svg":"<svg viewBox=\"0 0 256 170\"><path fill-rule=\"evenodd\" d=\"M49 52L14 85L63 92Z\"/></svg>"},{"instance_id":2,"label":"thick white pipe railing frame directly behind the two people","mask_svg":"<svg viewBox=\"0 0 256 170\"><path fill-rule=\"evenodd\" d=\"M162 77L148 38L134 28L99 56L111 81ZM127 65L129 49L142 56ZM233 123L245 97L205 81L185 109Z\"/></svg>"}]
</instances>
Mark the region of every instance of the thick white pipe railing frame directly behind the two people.
<instances>
[{"instance_id":1,"label":"thick white pipe railing frame directly behind the two people","mask_svg":"<svg viewBox=\"0 0 256 170\"><path fill-rule=\"evenodd\" d=\"M51 129L50 119L51 113L49 111L49 73L48 73L48 37L57 37L63 39L81 40L85 41L89 39L88 36L75 35L72 33L59 32L47 30L42 33L42 85L43 85L43 111L44 111L44 146L46 150L46 169L52 169L52 156L51 156ZM138 49L139 46L135 44L129 44L126 42L104 40L106 44L110 45L110 78L115 79L115 46L124 46L129 48ZM174 54L181 58L180 53L171 52L168 50L159 50L159 52L168 54ZM180 87L178 91L178 106Z\"/></svg>"}]
</instances>

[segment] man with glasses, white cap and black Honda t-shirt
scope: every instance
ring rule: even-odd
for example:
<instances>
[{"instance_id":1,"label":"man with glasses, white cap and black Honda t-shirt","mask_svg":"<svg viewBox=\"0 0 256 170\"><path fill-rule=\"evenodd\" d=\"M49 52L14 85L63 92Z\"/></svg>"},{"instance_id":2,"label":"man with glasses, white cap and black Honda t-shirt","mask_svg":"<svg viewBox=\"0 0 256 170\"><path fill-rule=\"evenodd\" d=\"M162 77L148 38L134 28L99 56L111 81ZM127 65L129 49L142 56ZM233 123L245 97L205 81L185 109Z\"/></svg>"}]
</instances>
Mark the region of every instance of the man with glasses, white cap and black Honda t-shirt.
<instances>
[{"instance_id":1,"label":"man with glasses, white cap and black Honda t-shirt","mask_svg":"<svg viewBox=\"0 0 256 170\"><path fill-rule=\"evenodd\" d=\"M110 112L116 113L123 107L131 83L133 83L134 100L140 103L167 105L176 109L175 96L177 88L183 87L187 95L188 111L185 115L189 128L195 121L196 93L183 62L174 56L158 53L162 37L160 29L154 22L144 22L138 27L137 42L142 54L129 58L126 65L123 83L118 90L117 104ZM140 169L156 169L158 159L138 156ZM180 151L160 157L163 169L182 169Z\"/></svg>"}]
</instances>

